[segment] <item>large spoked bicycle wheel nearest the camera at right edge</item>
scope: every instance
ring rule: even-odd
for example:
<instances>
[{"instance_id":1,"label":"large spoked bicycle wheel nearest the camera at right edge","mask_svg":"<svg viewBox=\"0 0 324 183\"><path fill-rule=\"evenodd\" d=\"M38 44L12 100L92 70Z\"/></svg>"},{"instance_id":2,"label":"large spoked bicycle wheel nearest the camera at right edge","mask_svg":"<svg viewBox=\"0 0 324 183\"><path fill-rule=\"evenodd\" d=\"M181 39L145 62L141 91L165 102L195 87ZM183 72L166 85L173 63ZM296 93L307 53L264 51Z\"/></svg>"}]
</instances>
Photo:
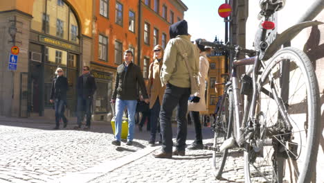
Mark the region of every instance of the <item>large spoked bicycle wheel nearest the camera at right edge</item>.
<instances>
[{"instance_id":1,"label":"large spoked bicycle wheel nearest the camera at right edge","mask_svg":"<svg viewBox=\"0 0 324 183\"><path fill-rule=\"evenodd\" d=\"M310 182L321 134L312 63L291 47L268 62L258 85L257 130L244 153L245 182Z\"/></svg>"}]
</instances>

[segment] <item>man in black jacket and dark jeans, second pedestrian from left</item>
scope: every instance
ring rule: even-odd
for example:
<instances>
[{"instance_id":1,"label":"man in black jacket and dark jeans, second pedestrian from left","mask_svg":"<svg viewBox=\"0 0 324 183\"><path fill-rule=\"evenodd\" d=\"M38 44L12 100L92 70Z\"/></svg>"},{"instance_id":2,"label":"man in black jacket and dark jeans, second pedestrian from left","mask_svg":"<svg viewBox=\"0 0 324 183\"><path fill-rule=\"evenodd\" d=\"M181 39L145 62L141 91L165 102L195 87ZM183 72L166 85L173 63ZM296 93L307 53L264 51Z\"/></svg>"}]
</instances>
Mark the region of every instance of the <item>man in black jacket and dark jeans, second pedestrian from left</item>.
<instances>
[{"instance_id":1,"label":"man in black jacket and dark jeans, second pedestrian from left","mask_svg":"<svg viewBox=\"0 0 324 183\"><path fill-rule=\"evenodd\" d=\"M91 105L92 97L94 92L96 92L96 81L93 76L90 75L90 68L84 66L82 69L82 75L79 76L77 82L77 92L78 92L78 126L75 129L81 128L82 121L84 118L84 112L87 114L87 123L84 130L89 130L91 126Z\"/></svg>"}]
</instances>

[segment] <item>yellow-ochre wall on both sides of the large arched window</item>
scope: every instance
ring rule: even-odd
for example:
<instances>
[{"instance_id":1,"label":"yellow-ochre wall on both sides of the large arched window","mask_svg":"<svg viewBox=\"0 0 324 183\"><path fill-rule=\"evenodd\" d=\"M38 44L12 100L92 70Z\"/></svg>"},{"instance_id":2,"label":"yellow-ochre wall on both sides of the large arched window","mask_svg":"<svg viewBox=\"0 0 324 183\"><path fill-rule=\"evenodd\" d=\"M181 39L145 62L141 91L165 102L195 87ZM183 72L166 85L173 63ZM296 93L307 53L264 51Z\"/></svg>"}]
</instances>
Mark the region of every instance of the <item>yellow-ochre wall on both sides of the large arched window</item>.
<instances>
[{"instance_id":1,"label":"yellow-ochre wall on both sides of the large arched window","mask_svg":"<svg viewBox=\"0 0 324 183\"><path fill-rule=\"evenodd\" d=\"M92 7L90 0L69 0L69 3L75 10L76 15L80 19L80 26L83 35L92 36ZM34 0L0 0L0 12L8 10L19 10L33 16Z\"/></svg>"}]
</instances>

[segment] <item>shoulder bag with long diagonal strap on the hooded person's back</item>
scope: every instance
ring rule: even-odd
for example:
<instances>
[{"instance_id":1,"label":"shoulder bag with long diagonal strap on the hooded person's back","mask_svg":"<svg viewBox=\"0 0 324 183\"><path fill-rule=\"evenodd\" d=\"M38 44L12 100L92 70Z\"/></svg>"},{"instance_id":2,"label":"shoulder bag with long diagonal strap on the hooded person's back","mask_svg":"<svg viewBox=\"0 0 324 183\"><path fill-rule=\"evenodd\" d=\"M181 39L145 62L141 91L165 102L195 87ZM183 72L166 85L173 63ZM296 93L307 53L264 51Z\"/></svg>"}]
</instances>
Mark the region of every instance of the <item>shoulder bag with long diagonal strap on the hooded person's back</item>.
<instances>
[{"instance_id":1,"label":"shoulder bag with long diagonal strap on the hooded person's back","mask_svg":"<svg viewBox=\"0 0 324 183\"><path fill-rule=\"evenodd\" d=\"M177 45L179 51L180 51L180 55L182 56L183 60L185 60L186 62L186 67L188 69L189 72L189 76L190 76L190 94L195 94L196 92L199 92L199 77L197 76L197 73L192 73L190 65L189 65L189 61L188 61L188 54L185 53L185 51L183 51L183 49L181 48L181 46L178 46L178 42L176 41L175 44Z\"/></svg>"}]
</instances>

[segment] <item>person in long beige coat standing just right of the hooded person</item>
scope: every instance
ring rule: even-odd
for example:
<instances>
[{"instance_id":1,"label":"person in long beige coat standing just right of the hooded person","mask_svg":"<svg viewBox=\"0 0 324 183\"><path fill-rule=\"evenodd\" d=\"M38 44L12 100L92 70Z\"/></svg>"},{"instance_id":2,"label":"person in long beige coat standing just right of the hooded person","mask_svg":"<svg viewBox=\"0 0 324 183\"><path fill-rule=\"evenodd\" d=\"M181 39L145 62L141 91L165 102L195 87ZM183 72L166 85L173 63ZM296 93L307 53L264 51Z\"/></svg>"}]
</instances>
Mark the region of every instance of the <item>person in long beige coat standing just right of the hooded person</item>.
<instances>
[{"instance_id":1,"label":"person in long beige coat standing just right of the hooded person","mask_svg":"<svg viewBox=\"0 0 324 183\"><path fill-rule=\"evenodd\" d=\"M208 75L208 69L209 69L209 62L207 55L210 53L211 49L206 48L205 46L199 44L199 42L202 39L195 40L195 45L199 48L199 82L205 83L205 79ZM206 40L203 40L206 41ZM192 98L188 101L188 111L190 111L190 118L194 121L195 124L195 141L188 146L188 150L197 150L197 149L203 149L203 137L202 137L202 129L201 129L201 121L199 118L199 112L206 111L206 101L205 101L205 85L199 85L199 92L195 93ZM194 102L197 103L194 103Z\"/></svg>"}]
</instances>

